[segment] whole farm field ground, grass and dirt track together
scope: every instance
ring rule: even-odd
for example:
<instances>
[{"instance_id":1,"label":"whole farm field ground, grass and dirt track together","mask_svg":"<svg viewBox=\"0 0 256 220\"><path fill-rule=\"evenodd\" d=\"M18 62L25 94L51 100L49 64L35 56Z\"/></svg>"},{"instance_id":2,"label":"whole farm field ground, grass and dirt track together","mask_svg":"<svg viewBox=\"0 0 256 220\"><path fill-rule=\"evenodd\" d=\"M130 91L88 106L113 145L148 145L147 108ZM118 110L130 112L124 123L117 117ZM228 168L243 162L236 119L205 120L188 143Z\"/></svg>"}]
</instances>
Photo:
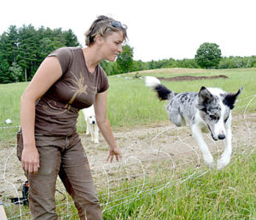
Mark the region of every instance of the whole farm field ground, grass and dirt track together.
<instances>
[{"instance_id":1,"label":"whole farm field ground, grass and dirt track together","mask_svg":"<svg viewBox=\"0 0 256 220\"><path fill-rule=\"evenodd\" d=\"M167 119L165 103L144 86L147 75L174 78L162 83L175 92L198 91L201 85L243 91L233 110L233 156L223 171L210 171L201 159L189 127L177 129ZM189 80L184 76L201 77ZM219 77L225 76L226 78ZM202 78L213 77L213 78ZM122 149L120 163L106 163L108 146L100 136L93 144L78 130L90 160L105 219L255 219L256 69L160 69L109 77L108 117ZM0 85L0 200L10 219L30 219L25 206L10 204L21 196L26 180L15 156L20 125L19 100L27 83ZM12 124L5 124L12 119ZM214 159L221 142L206 135ZM57 211L63 219L79 219L73 201L57 182ZM16 191L17 190L17 191Z\"/></svg>"}]
</instances>

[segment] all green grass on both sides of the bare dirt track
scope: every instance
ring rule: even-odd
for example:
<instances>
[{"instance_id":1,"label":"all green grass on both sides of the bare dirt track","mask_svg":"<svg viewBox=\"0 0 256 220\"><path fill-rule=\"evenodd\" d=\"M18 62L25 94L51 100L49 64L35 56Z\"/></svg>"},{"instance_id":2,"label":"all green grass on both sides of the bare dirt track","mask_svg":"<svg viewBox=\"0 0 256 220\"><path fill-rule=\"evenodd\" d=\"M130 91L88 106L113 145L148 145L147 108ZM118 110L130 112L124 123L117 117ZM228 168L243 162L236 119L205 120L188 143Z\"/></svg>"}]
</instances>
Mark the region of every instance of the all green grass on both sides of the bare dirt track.
<instances>
[{"instance_id":1,"label":"all green grass on both sides of the bare dirt track","mask_svg":"<svg viewBox=\"0 0 256 220\"><path fill-rule=\"evenodd\" d=\"M143 80L134 78L136 74L137 72L131 72L122 74L121 77L109 77L108 118L113 130L123 130L145 124L150 126L150 124L167 120L165 103L156 99L154 93L144 86ZM242 86L243 91L234 109L235 114L242 114L248 101L256 95L256 69L162 69L139 72L139 75L164 78L182 75L225 75L228 78L189 82L162 81L162 83L175 92L198 91L202 85L236 92ZM131 79L125 79L125 77ZM12 119L13 123L9 125L20 125L20 96L26 86L27 83L0 85L0 126L7 126L4 123L5 119ZM247 108L247 113L255 113L255 102L254 100ZM253 130L255 129L256 127L253 127ZM1 142L15 143L15 130L17 129L0 130ZM85 130L81 114L78 120L78 130L79 132ZM255 140L255 136L252 138ZM255 146L245 147L255 148ZM160 176L154 178L163 178L161 186L165 187L154 186L154 183L148 184L142 194L137 187L134 187L141 184L140 179L123 182L116 190L134 188L127 192L122 191L121 196L131 200L123 204L117 203L117 206L112 204L113 208L111 209L107 207L107 210L103 212L103 217L104 219L256 219L256 153L254 151L248 157L241 156L239 153L238 155L236 163L232 163L224 171L201 169L195 176L184 182L179 181L183 176L192 175L195 168L177 171L172 182L166 178L168 174L162 171ZM177 182L179 183L177 184ZM105 192L105 188L98 190L98 194L103 192ZM102 204L106 203L107 199L100 198L102 198ZM112 200L118 198L119 195L111 195ZM66 213L65 206L58 206L57 210L63 215ZM79 219L74 214L76 213L74 206L70 211L73 216L64 219ZM9 217L19 214L10 209L7 212Z\"/></svg>"}]
</instances>

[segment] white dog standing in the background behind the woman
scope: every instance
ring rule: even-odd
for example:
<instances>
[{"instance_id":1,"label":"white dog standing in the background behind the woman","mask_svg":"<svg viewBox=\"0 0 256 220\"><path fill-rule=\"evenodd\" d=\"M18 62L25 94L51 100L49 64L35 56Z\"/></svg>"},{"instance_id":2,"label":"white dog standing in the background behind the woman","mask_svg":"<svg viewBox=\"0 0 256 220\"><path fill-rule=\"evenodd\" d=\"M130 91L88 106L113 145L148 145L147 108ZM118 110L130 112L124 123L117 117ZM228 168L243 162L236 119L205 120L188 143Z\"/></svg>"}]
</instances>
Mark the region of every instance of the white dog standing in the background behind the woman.
<instances>
[{"instance_id":1,"label":"white dog standing in the background behind the woman","mask_svg":"<svg viewBox=\"0 0 256 220\"><path fill-rule=\"evenodd\" d=\"M99 143L99 128L96 124L96 117L94 112L94 106L90 106L82 109L84 113L84 119L87 124L86 135L91 136L91 142Z\"/></svg>"}]
</instances>

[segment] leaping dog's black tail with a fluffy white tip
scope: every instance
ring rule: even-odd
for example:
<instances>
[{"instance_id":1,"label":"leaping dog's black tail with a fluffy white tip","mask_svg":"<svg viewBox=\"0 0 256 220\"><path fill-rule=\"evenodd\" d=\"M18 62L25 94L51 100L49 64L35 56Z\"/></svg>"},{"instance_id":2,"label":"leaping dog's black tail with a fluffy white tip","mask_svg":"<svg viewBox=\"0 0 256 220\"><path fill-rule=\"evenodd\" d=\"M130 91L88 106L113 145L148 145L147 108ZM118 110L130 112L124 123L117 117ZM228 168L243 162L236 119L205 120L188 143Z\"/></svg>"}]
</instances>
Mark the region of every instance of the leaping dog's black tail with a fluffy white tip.
<instances>
[{"instance_id":1,"label":"leaping dog's black tail with a fluffy white tip","mask_svg":"<svg viewBox=\"0 0 256 220\"><path fill-rule=\"evenodd\" d=\"M160 80L155 77L145 77L146 86L156 91L158 98L162 100L172 99L175 93L166 88L165 85L160 83Z\"/></svg>"}]
</instances>

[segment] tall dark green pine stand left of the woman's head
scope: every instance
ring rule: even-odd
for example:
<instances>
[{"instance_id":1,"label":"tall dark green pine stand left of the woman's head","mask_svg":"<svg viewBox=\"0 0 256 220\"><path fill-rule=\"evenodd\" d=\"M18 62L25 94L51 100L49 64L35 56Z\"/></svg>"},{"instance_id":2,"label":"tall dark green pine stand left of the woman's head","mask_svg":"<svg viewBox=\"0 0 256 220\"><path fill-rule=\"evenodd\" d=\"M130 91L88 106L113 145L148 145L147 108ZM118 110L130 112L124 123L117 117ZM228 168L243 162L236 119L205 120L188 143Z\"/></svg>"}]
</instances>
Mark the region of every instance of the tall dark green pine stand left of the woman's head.
<instances>
[{"instance_id":1,"label":"tall dark green pine stand left of the woman's head","mask_svg":"<svg viewBox=\"0 0 256 220\"><path fill-rule=\"evenodd\" d=\"M51 30L41 26L9 26L0 36L0 83L31 80L40 63L60 47L77 47L79 41L71 29Z\"/></svg>"}]
</instances>

